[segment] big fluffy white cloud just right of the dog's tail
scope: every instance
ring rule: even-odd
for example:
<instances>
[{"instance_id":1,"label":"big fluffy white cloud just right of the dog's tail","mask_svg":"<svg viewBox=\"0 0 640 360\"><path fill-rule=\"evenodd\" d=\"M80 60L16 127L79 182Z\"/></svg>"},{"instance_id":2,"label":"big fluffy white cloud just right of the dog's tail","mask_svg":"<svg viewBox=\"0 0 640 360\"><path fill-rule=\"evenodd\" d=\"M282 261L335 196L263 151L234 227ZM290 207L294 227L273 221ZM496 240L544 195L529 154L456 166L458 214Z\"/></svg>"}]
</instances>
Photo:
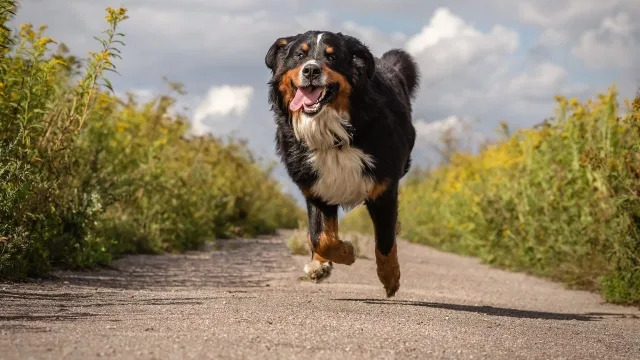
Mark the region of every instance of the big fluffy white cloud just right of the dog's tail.
<instances>
[{"instance_id":1,"label":"big fluffy white cloud just right of the dog's tail","mask_svg":"<svg viewBox=\"0 0 640 360\"><path fill-rule=\"evenodd\" d=\"M422 72L415 106L418 115L478 115L473 103L503 81L508 55L517 43L518 35L504 27L482 33L448 9L436 10L427 26L406 44Z\"/></svg>"}]
</instances>

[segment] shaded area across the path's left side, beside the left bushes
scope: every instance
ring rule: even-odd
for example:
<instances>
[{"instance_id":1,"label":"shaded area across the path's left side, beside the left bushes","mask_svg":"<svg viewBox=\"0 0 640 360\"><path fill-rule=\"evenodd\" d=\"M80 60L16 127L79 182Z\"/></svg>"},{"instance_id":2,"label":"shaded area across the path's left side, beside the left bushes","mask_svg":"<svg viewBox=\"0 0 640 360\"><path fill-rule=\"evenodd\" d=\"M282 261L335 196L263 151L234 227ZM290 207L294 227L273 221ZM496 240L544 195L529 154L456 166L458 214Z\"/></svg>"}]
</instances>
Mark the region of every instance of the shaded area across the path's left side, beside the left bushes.
<instances>
[{"instance_id":1,"label":"shaded area across the path's left side, beside the left bushes","mask_svg":"<svg viewBox=\"0 0 640 360\"><path fill-rule=\"evenodd\" d=\"M26 281L24 286L8 283L7 288L0 282L0 331L39 331L46 328L36 325L87 319L110 322L114 315L132 312L143 317L163 311L151 310L154 307L199 306L229 296L253 299L243 291L211 296L197 290L270 286L287 271L278 260L288 250L277 238L234 239L217 245L217 251L125 256L98 271L58 271L54 279Z\"/></svg>"}]
</instances>

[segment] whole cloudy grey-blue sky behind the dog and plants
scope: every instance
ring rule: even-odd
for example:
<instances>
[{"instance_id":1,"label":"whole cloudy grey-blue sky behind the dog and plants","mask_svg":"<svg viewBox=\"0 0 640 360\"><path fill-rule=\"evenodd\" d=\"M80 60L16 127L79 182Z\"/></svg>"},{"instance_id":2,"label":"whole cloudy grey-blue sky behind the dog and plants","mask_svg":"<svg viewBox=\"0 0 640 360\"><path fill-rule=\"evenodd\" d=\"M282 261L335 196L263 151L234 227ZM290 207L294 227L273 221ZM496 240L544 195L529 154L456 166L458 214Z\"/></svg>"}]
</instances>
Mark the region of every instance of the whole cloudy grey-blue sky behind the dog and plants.
<instances>
[{"instance_id":1,"label":"whole cloudy grey-blue sky behind the dog and plants","mask_svg":"<svg viewBox=\"0 0 640 360\"><path fill-rule=\"evenodd\" d=\"M423 73L414 119L417 163L433 162L446 129L480 141L500 121L529 127L553 115L556 94L580 99L615 83L625 97L640 85L638 0L23 0L15 20L49 25L78 55L96 49L107 6L130 19L119 93L185 84L180 100L195 132L249 140L275 159L264 54L280 36L342 31L380 56L409 50ZM282 168L276 172L287 188Z\"/></svg>"}]
</instances>

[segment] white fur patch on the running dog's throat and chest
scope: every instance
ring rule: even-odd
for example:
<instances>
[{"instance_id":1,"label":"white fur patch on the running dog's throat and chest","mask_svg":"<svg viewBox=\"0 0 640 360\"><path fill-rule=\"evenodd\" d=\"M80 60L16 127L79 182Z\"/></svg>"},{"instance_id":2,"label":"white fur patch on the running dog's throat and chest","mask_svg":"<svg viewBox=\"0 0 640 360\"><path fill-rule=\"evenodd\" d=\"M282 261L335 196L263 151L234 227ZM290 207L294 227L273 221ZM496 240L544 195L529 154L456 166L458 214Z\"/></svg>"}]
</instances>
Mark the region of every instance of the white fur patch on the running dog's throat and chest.
<instances>
[{"instance_id":1,"label":"white fur patch on the running dog's throat and chest","mask_svg":"<svg viewBox=\"0 0 640 360\"><path fill-rule=\"evenodd\" d=\"M363 202L374 186L373 179L363 176L364 167L373 167L374 161L350 145L348 126L348 116L331 107L314 117L301 114L293 120L296 137L311 150L308 161L318 173L311 192L329 204L352 207ZM336 147L336 140L342 146Z\"/></svg>"}]
</instances>

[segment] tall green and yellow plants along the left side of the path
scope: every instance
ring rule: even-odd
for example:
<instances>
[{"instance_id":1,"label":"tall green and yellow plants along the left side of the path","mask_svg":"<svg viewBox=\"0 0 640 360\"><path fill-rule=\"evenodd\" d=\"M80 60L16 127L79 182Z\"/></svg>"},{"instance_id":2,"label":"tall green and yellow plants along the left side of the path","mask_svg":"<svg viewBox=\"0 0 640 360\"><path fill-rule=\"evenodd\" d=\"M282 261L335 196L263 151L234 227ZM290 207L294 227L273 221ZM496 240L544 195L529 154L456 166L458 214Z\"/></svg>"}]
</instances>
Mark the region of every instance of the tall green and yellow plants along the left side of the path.
<instances>
[{"instance_id":1,"label":"tall green and yellow plants along the left side of the path","mask_svg":"<svg viewBox=\"0 0 640 360\"><path fill-rule=\"evenodd\" d=\"M105 75L126 10L107 9L84 61L53 51L45 27L12 32L14 12L0 0L0 277L298 225L294 200L242 143L190 137L171 96L113 94Z\"/></svg>"}]
</instances>

